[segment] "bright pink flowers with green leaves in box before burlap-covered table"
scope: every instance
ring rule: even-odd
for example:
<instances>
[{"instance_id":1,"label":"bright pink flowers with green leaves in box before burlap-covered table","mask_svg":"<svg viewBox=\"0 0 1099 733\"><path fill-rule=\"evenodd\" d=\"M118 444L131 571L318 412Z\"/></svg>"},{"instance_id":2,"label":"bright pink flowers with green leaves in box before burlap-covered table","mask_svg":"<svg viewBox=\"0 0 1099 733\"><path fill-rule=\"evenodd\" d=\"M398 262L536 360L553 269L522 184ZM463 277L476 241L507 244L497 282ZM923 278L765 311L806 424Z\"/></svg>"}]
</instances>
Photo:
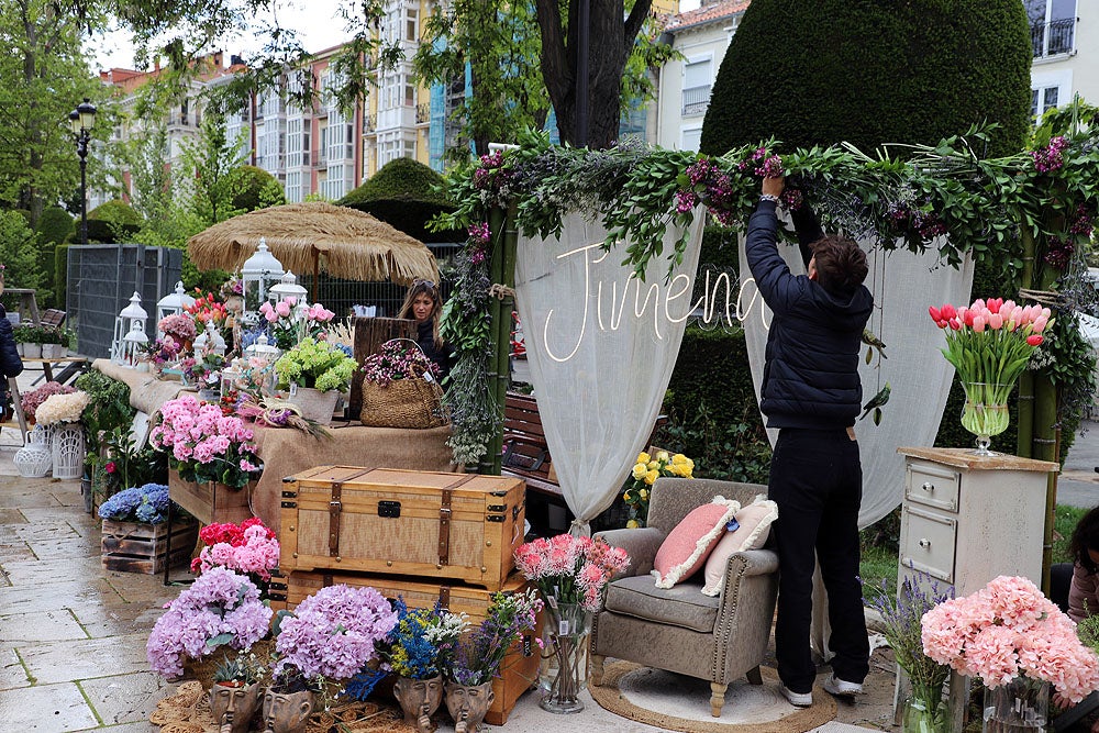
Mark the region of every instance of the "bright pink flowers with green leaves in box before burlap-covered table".
<instances>
[{"instance_id":1,"label":"bright pink flowers with green leaves in box before burlap-covered table","mask_svg":"<svg viewBox=\"0 0 1099 733\"><path fill-rule=\"evenodd\" d=\"M163 421L149 432L149 443L168 453L168 465L185 481L240 489L260 470L252 430L217 404L185 395L165 402L160 414Z\"/></svg>"}]
</instances>

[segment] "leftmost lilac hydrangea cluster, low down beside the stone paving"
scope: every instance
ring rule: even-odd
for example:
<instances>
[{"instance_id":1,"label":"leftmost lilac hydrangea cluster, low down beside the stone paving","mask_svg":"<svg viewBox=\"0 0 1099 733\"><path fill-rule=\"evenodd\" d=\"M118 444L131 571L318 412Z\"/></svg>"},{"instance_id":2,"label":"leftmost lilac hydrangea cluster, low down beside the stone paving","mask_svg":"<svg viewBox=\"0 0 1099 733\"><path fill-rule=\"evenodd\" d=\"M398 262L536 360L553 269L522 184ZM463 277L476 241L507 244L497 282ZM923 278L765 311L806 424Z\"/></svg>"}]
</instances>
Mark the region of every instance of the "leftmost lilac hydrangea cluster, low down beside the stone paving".
<instances>
[{"instance_id":1,"label":"leftmost lilac hydrangea cluster, low down beside the stone paving","mask_svg":"<svg viewBox=\"0 0 1099 733\"><path fill-rule=\"evenodd\" d=\"M175 679L184 674L188 659L201 660L222 646L249 649L267 634L271 614L251 580L226 568L212 568L157 619L145 644L148 664L153 671ZM213 670L209 671L212 678Z\"/></svg>"}]
</instances>

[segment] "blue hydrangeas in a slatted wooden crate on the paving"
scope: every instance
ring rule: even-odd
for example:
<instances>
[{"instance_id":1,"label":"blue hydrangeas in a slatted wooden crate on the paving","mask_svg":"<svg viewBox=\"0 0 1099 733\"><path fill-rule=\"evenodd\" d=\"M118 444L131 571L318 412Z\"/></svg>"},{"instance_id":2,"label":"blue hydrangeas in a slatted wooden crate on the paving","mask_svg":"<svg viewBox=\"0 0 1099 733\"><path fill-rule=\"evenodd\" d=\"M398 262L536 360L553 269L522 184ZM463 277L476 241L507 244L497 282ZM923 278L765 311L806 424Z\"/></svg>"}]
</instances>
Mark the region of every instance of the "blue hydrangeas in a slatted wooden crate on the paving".
<instances>
[{"instance_id":1,"label":"blue hydrangeas in a slatted wooden crate on the paving","mask_svg":"<svg viewBox=\"0 0 1099 733\"><path fill-rule=\"evenodd\" d=\"M169 514L180 509L168 498L164 484L144 484L119 491L99 508L103 520L103 567L122 573L156 575L164 568L186 562L198 537L198 523L190 517L171 522L168 557Z\"/></svg>"}]
</instances>

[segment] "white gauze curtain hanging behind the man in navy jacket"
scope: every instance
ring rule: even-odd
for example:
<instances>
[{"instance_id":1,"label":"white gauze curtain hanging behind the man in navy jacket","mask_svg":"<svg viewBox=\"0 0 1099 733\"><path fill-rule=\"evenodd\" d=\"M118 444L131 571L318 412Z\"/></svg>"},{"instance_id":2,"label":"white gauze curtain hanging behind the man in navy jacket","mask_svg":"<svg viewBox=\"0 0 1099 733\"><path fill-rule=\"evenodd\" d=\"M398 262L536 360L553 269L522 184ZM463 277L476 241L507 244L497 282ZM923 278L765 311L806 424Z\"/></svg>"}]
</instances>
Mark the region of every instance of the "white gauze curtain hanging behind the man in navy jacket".
<instances>
[{"instance_id":1,"label":"white gauze curtain hanging behind the man in navy jacket","mask_svg":"<svg viewBox=\"0 0 1099 733\"><path fill-rule=\"evenodd\" d=\"M863 462L863 504L858 525L869 526L897 507L904 493L904 459L900 446L930 446L939 432L943 408L954 379L954 367L939 353L945 345L942 332L928 315L929 306L968 302L973 287L973 260L959 269L941 265L935 247L922 255L908 251L886 253L861 243L867 251L866 287L874 293L874 313L867 327L886 344L886 356L870 365L859 360L863 403L889 382L891 396L881 409L881 423L873 415L855 422ZM797 245L779 244L779 252L795 275L804 274ZM741 240L741 315L747 341L748 363L756 399L763 379L764 349L770 309L764 306L744 259ZM865 345L863 355L865 356ZM946 415L946 420L958 419ZM771 445L777 431L768 431Z\"/></svg>"}]
</instances>

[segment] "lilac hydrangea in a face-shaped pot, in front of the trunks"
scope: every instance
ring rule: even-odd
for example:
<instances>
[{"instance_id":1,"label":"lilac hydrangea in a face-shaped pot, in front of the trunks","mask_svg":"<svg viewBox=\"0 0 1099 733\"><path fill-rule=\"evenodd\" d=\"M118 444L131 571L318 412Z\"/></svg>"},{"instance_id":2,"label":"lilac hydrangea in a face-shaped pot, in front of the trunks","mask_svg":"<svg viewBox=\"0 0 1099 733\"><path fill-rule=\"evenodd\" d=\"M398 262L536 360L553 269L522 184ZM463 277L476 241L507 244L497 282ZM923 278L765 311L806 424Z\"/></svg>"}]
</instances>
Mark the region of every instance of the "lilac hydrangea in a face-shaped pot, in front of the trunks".
<instances>
[{"instance_id":1,"label":"lilac hydrangea in a face-shaped pot, in front of the trunks","mask_svg":"<svg viewBox=\"0 0 1099 733\"><path fill-rule=\"evenodd\" d=\"M329 586L292 613L280 611L275 626L278 660L264 698L267 728L304 730L314 695L326 681L351 679L373 662L375 645L396 624L389 601L369 587Z\"/></svg>"}]
</instances>

